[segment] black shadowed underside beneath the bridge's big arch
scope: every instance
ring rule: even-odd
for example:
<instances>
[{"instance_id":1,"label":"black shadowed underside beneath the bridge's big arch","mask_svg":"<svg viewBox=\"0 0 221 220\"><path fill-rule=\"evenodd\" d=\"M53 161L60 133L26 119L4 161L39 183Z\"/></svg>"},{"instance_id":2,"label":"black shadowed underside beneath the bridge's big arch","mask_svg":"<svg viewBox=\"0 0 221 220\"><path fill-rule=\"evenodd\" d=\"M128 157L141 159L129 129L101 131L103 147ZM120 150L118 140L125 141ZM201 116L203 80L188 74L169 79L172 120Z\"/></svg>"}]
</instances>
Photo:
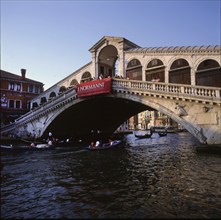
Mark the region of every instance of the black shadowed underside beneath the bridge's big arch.
<instances>
[{"instance_id":1,"label":"black shadowed underside beneath the bridge's big arch","mask_svg":"<svg viewBox=\"0 0 221 220\"><path fill-rule=\"evenodd\" d=\"M127 119L145 110L151 108L123 98L102 95L83 98L60 113L45 133L52 131L57 138L88 140L99 130L99 136L108 138Z\"/></svg>"}]
</instances>

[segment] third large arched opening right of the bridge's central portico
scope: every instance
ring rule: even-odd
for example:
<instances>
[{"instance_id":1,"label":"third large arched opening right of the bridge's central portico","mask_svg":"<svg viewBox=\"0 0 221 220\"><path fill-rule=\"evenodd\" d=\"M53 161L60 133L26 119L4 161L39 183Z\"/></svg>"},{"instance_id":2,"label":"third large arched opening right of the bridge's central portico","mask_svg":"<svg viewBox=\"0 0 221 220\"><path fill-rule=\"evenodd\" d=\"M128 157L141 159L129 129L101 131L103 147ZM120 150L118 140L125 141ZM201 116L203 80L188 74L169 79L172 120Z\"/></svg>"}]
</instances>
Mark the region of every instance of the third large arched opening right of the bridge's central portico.
<instances>
[{"instance_id":1,"label":"third large arched opening right of the bridge's central portico","mask_svg":"<svg viewBox=\"0 0 221 220\"><path fill-rule=\"evenodd\" d=\"M169 83L191 84L189 63L184 59L175 60L169 70Z\"/></svg>"}]
</instances>

